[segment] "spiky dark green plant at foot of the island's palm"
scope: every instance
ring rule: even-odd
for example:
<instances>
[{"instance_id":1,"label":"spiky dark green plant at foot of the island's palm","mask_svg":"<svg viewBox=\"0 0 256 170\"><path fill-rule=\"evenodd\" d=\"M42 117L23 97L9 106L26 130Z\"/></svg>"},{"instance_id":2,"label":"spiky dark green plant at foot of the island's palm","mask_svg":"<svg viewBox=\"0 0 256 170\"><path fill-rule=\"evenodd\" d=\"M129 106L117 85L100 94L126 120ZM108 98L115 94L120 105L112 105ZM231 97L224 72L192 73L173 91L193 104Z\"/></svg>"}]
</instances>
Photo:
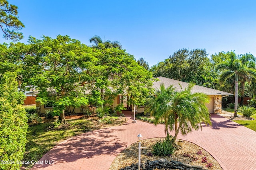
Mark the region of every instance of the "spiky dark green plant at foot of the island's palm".
<instances>
[{"instance_id":1,"label":"spiky dark green plant at foot of the island's palm","mask_svg":"<svg viewBox=\"0 0 256 170\"><path fill-rule=\"evenodd\" d=\"M153 146L153 149L153 154L156 154L158 156L169 156L174 152L176 148L173 147L172 142L170 140L164 139L163 141L158 141Z\"/></svg>"}]
</instances>

